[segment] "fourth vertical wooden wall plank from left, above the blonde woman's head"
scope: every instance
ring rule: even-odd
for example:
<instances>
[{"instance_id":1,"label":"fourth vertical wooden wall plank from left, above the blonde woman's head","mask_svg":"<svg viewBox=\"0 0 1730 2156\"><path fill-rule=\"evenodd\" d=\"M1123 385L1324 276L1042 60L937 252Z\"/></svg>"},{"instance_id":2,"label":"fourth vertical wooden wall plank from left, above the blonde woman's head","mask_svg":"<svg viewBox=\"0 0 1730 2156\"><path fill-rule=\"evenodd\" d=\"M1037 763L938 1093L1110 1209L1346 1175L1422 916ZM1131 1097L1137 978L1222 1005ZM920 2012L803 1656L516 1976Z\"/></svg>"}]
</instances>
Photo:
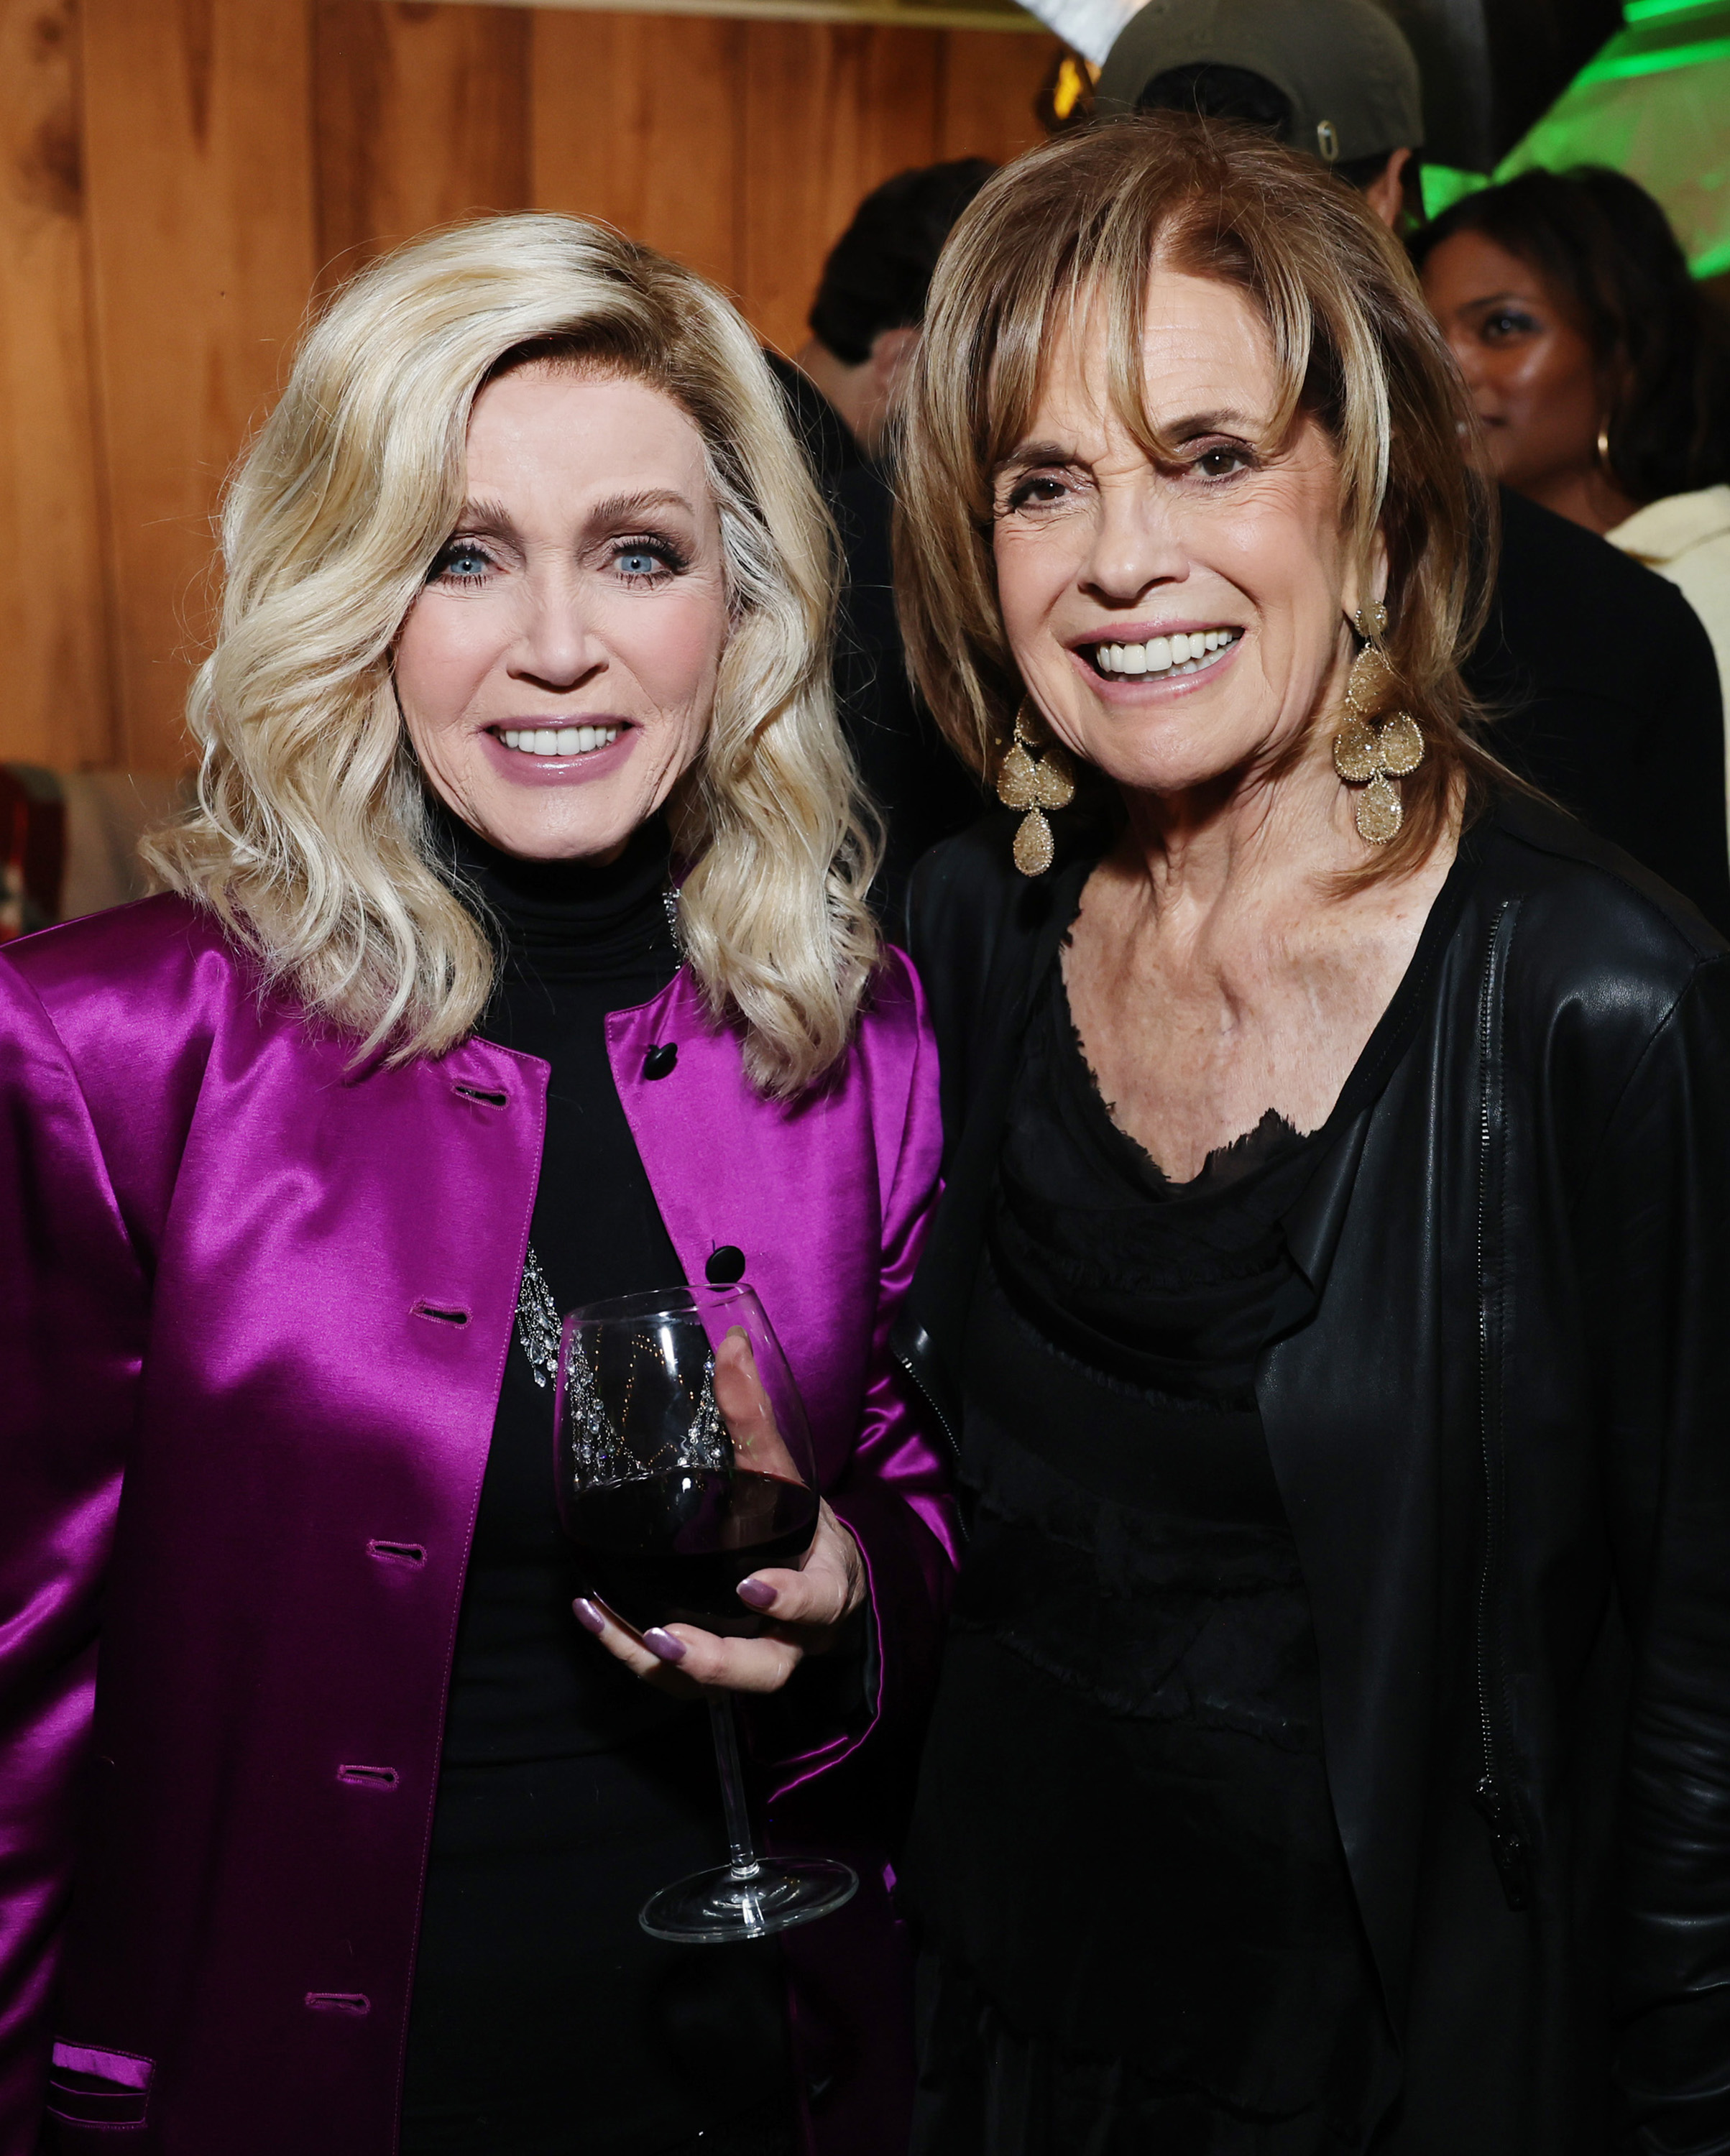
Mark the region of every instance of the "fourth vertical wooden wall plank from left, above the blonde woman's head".
<instances>
[{"instance_id":1,"label":"fourth vertical wooden wall plank from left, above the blonde woman's head","mask_svg":"<svg viewBox=\"0 0 1730 2156\"><path fill-rule=\"evenodd\" d=\"M533 22L535 207L604 218L738 293L749 26L552 9Z\"/></svg>"}]
</instances>

